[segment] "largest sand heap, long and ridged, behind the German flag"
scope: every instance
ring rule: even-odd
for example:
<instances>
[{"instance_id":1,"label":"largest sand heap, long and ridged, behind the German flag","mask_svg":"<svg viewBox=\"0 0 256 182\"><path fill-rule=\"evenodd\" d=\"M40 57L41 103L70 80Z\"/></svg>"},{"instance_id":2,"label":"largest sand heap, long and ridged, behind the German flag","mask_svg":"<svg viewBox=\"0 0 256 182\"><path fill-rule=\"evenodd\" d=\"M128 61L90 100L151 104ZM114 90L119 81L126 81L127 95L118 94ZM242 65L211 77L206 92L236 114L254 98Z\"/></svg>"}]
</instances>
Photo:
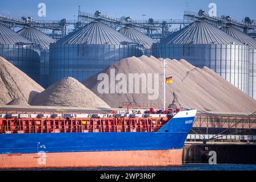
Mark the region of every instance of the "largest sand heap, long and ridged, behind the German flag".
<instances>
[{"instance_id":1,"label":"largest sand heap, long and ridged, behind the German flag","mask_svg":"<svg viewBox=\"0 0 256 182\"><path fill-rule=\"evenodd\" d=\"M253 98L247 96L209 68L196 68L185 60L166 59L166 63L167 76L173 76L173 83L166 84L167 106L172 104L177 107L195 108L200 111L239 113L252 113L256 110L256 101ZM115 69L115 75L117 73L124 73L125 75L128 73L162 73L161 64L159 59L152 56L129 57L118 61L101 73L106 73L109 78L110 69ZM162 81L159 82L159 97L156 100L148 100L148 92L143 94L141 89L141 94L98 93L97 87L101 81L97 80L97 76L98 74L82 83L112 107L118 107L119 102L127 101L162 104ZM161 75L159 75L160 79L162 80ZM116 81L115 84L118 82ZM152 85L154 85L154 81Z\"/></svg>"}]
</instances>

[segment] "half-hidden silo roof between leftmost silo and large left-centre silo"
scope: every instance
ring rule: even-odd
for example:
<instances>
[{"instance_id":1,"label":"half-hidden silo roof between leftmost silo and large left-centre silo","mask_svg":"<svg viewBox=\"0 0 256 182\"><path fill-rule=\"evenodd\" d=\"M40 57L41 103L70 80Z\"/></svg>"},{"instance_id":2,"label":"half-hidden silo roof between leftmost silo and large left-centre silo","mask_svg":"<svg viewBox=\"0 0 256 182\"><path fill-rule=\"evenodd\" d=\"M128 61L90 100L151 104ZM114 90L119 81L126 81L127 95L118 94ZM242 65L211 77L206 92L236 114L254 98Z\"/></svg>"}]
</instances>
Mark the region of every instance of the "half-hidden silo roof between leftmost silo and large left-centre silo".
<instances>
[{"instance_id":1,"label":"half-hidden silo roof between leftmost silo and large left-centre silo","mask_svg":"<svg viewBox=\"0 0 256 182\"><path fill-rule=\"evenodd\" d=\"M43 49L48 49L49 44L56 42L54 39L34 27L22 28L22 30L19 30L17 33Z\"/></svg>"}]
</instances>

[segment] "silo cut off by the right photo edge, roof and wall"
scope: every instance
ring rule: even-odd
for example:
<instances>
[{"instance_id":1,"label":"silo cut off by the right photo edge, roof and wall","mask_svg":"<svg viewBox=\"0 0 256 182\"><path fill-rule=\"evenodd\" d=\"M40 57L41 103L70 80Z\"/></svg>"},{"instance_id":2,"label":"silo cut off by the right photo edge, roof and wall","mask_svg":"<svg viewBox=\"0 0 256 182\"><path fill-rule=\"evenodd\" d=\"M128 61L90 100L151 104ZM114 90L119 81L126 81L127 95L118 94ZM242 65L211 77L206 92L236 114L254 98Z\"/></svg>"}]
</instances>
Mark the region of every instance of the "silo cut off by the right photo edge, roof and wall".
<instances>
[{"instance_id":1,"label":"silo cut off by the right photo edge, roof and wall","mask_svg":"<svg viewBox=\"0 0 256 182\"><path fill-rule=\"evenodd\" d=\"M249 95L256 99L256 40L234 27L224 27L223 30L250 47Z\"/></svg>"}]
</instances>

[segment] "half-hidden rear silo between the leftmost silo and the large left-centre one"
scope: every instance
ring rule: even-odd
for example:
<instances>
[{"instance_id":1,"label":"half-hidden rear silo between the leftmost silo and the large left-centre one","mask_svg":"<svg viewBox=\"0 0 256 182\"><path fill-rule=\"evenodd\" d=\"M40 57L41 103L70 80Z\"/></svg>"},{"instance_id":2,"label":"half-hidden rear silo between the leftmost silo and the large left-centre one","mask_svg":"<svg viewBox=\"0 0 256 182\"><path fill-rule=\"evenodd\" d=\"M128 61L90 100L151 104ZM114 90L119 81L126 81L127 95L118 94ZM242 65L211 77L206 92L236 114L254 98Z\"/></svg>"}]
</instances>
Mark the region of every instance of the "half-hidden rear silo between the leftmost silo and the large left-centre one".
<instances>
[{"instance_id":1,"label":"half-hidden rear silo between the leftmost silo and the large left-centre one","mask_svg":"<svg viewBox=\"0 0 256 182\"><path fill-rule=\"evenodd\" d=\"M56 41L34 27L26 27L18 31L19 35L27 38L40 47L40 85L49 86L49 44Z\"/></svg>"}]
</instances>

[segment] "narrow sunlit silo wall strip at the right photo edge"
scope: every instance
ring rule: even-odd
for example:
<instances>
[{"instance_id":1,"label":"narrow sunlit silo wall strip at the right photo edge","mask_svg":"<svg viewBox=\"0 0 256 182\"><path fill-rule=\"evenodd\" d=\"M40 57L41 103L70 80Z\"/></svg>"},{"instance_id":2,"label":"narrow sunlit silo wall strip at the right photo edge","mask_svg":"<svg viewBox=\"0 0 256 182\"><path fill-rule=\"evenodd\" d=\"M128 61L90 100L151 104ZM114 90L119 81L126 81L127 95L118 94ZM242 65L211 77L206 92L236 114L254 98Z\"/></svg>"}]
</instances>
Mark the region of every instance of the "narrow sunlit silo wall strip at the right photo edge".
<instances>
[{"instance_id":1,"label":"narrow sunlit silo wall strip at the right photo edge","mask_svg":"<svg viewBox=\"0 0 256 182\"><path fill-rule=\"evenodd\" d=\"M249 95L256 100L256 49L250 49Z\"/></svg>"}]
</instances>

